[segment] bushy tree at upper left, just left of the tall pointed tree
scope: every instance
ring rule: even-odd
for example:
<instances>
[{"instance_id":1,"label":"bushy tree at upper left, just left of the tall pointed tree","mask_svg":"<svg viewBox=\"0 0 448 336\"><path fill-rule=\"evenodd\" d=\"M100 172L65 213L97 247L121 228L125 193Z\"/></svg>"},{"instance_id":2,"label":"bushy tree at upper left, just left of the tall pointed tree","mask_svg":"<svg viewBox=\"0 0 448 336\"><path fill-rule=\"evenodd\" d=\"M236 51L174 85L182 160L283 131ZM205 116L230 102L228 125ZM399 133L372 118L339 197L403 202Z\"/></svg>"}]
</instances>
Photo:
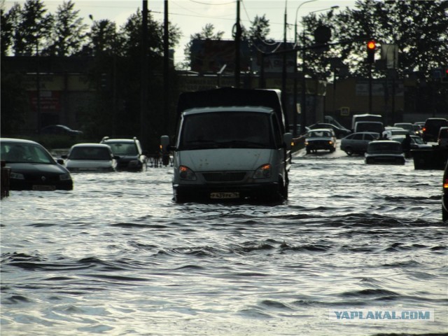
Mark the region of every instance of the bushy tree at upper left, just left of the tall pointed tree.
<instances>
[{"instance_id":1,"label":"bushy tree at upper left, just left of the tall pointed tree","mask_svg":"<svg viewBox=\"0 0 448 336\"><path fill-rule=\"evenodd\" d=\"M13 7L11 10L19 10ZM27 0L17 14L13 49L16 56L39 54L45 46L51 31L52 15L46 13L42 0Z\"/></svg>"}]
</instances>

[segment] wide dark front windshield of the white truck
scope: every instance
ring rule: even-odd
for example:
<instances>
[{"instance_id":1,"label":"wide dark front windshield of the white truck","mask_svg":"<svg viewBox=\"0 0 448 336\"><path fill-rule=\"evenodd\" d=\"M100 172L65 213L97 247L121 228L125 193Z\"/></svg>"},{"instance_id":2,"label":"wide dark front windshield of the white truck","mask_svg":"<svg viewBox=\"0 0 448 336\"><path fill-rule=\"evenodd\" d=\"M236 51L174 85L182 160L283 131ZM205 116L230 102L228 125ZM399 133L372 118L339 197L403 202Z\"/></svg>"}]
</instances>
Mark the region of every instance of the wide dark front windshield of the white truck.
<instances>
[{"instance_id":1,"label":"wide dark front windshield of the white truck","mask_svg":"<svg viewBox=\"0 0 448 336\"><path fill-rule=\"evenodd\" d=\"M183 119L179 149L274 148L267 113L197 113Z\"/></svg>"}]
</instances>

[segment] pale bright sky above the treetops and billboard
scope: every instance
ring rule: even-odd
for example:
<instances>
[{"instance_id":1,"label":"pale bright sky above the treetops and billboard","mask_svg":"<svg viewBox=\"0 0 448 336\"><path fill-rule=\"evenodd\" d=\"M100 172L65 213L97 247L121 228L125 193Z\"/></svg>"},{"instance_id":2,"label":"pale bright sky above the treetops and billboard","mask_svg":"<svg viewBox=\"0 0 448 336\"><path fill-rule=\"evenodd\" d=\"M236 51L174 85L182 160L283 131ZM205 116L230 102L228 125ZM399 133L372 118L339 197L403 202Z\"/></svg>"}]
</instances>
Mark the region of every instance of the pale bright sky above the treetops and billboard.
<instances>
[{"instance_id":1,"label":"pale bright sky above the treetops and billboard","mask_svg":"<svg viewBox=\"0 0 448 336\"><path fill-rule=\"evenodd\" d=\"M123 25L130 15L141 10L142 0L73 0L75 9L79 10L79 15L84 18L84 23L90 25L89 15L94 20L109 19L116 22L118 26ZM6 10L13 3L25 3L25 1L7 0ZM251 26L251 20L256 15L265 15L269 20L269 38L283 41L284 22L286 10L286 38L288 41L294 40L294 25L297 13L297 31L300 32L300 18L315 10L325 10L332 6L339 6L337 10L346 7L353 8L355 0L241 0L240 20L244 27ZM55 13L57 6L62 4L62 0L43 1L48 12ZM148 0L148 10L151 10L155 20L164 20L163 0ZM174 62L183 62L183 49L190 41L190 35L199 33L205 25L211 23L215 31L224 31L223 39L232 39L232 27L237 20L236 0L169 0L168 1L169 21L181 29L181 40L176 46ZM322 11L323 13L323 11Z\"/></svg>"}]
</instances>

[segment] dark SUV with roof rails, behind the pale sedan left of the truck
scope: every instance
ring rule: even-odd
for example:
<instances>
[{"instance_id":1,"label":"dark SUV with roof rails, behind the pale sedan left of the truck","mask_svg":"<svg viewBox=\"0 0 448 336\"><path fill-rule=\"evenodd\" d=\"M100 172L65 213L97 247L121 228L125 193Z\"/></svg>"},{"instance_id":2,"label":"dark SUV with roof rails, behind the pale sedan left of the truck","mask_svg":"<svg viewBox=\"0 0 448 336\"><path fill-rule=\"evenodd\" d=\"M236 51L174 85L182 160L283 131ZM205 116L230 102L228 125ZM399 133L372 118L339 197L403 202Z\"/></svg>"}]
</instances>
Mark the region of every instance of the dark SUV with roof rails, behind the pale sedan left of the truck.
<instances>
[{"instance_id":1,"label":"dark SUV with roof rails, behind the pale sedan left of the truck","mask_svg":"<svg viewBox=\"0 0 448 336\"><path fill-rule=\"evenodd\" d=\"M101 144L111 147L113 155L117 155L117 170L141 172L148 162L148 152L141 149L140 141L132 139L110 139L104 137Z\"/></svg>"}]
</instances>

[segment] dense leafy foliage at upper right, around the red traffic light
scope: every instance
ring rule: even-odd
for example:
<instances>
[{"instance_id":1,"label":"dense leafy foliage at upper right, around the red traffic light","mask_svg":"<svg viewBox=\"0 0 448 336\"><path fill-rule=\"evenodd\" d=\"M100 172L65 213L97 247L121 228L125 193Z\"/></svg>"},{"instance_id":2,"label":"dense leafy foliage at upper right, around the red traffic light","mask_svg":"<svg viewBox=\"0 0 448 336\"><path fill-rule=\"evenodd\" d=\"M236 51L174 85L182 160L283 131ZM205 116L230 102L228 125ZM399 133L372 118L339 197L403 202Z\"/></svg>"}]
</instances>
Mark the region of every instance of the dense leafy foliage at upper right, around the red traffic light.
<instances>
[{"instance_id":1,"label":"dense leafy foliage at upper right, around the red traffic light","mask_svg":"<svg viewBox=\"0 0 448 336\"><path fill-rule=\"evenodd\" d=\"M349 66L351 76L367 76L367 39L378 45L398 45L399 76L414 71L430 78L431 70L448 64L448 16L444 1L357 1L353 9L346 8L337 15L320 15L321 24L332 27L335 45L327 57L339 57ZM304 18L307 36L312 36L313 20ZM364 38L360 41L360 38ZM358 41L356 41L358 40ZM379 48L378 48L379 49ZM377 59L380 50L377 50ZM319 66L321 68L319 69ZM314 64L318 71L325 67ZM378 73L377 76L380 76Z\"/></svg>"}]
</instances>

